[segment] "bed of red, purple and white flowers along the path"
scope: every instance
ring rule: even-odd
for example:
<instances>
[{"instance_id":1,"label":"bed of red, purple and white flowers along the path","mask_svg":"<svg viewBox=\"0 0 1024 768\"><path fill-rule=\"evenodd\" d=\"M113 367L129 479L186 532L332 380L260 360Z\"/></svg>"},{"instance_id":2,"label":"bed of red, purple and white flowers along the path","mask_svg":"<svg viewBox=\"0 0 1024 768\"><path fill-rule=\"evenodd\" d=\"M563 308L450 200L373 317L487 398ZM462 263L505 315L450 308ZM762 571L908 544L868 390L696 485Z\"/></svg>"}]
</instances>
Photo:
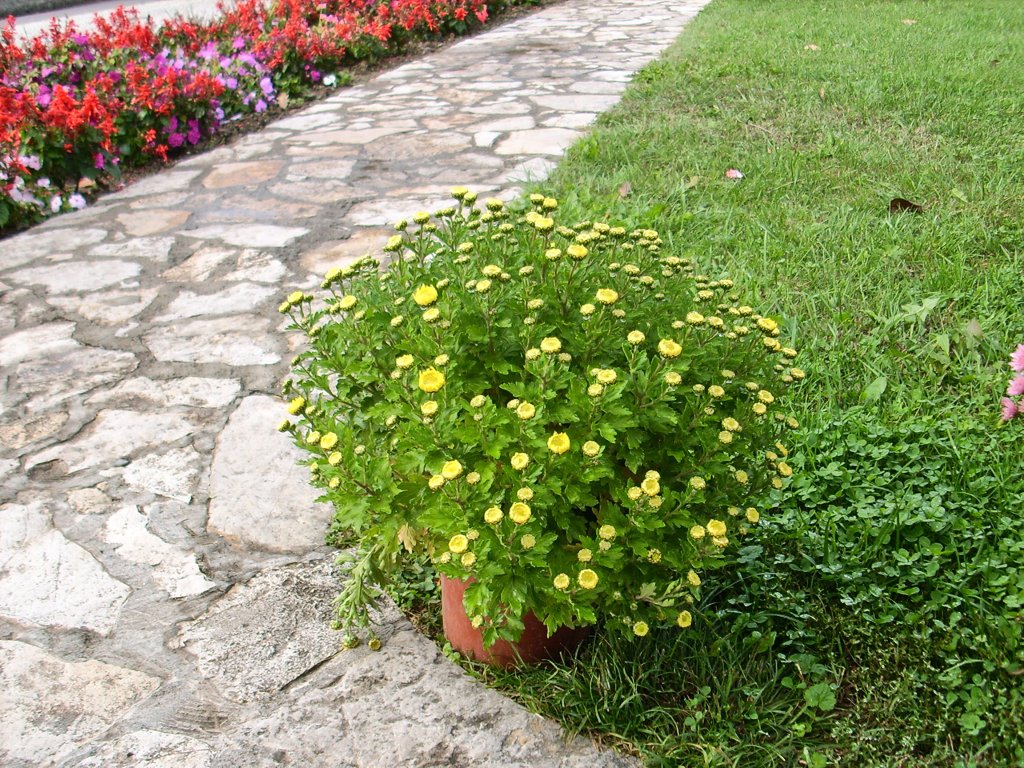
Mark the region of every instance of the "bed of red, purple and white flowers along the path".
<instances>
[{"instance_id":1,"label":"bed of red, purple and white flowers along the path","mask_svg":"<svg viewBox=\"0 0 1024 768\"><path fill-rule=\"evenodd\" d=\"M0 232L83 208L85 188L166 162L225 123L338 82L412 39L467 32L520 0L242 0L208 23L118 8L85 31L0 31Z\"/></svg>"}]
</instances>

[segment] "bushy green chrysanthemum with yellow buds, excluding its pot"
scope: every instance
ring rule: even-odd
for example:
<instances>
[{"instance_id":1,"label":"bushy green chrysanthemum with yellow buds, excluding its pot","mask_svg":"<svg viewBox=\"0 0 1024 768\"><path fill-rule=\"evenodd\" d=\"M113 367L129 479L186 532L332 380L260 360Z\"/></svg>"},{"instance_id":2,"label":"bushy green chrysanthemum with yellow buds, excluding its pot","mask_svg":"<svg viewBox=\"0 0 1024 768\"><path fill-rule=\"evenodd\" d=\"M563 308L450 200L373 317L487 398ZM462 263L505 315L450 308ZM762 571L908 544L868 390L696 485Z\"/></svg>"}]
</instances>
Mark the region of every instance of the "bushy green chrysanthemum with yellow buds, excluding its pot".
<instances>
[{"instance_id":1,"label":"bushy green chrysanthemum with yellow buds, excluding its pot","mask_svg":"<svg viewBox=\"0 0 1024 768\"><path fill-rule=\"evenodd\" d=\"M356 542L339 622L407 553L464 590L484 648L603 622L690 626L706 573L792 474L775 321L651 229L566 226L540 195L401 221L387 264L281 310L308 348L282 429Z\"/></svg>"}]
</instances>

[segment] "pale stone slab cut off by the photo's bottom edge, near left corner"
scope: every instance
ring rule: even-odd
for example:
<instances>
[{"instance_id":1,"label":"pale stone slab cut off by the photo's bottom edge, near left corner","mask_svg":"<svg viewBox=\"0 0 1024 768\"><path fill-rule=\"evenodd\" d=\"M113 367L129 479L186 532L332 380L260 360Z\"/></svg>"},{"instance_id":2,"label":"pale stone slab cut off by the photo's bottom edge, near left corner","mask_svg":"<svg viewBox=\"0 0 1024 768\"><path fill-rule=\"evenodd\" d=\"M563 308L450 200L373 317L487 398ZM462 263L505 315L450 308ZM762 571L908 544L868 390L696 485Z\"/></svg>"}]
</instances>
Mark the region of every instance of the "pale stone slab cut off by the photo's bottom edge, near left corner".
<instances>
[{"instance_id":1,"label":"pale stone slab cut off by the photo's bottom edge, near left corner","mask_svg":"<svg viewBox=\"0 0 1024 768\"><path fill-rule=\"evenodd\" d=\"M143 729L97 745L76 768L213 768L215 758L198 738Z\"/></svg>"}]
</instances>

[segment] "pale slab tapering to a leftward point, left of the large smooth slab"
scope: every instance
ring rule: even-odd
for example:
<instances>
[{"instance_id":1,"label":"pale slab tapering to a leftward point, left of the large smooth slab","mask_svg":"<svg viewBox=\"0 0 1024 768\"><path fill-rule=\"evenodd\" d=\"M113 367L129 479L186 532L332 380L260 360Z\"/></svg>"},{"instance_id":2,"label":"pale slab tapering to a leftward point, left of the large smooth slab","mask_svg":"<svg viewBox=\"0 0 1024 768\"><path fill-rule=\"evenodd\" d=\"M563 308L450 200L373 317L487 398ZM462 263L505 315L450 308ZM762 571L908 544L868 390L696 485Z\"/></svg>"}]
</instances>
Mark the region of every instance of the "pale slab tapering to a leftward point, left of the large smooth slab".
<instances>
[{"instance_id":1,"label":"pale slab tapering to a leftward point, left of the large smooth slab","mask_svg":"<svg viewBox=\"0 0 1024 768\"><path fill-rule=\"evenodd\" d=\"M106 469L146 449L179 440L194 429L191 422L177 413L100 411L75 439L41 451L26 467L59 461L67 474L91 467Z\"/></svg>"}]
</instances>

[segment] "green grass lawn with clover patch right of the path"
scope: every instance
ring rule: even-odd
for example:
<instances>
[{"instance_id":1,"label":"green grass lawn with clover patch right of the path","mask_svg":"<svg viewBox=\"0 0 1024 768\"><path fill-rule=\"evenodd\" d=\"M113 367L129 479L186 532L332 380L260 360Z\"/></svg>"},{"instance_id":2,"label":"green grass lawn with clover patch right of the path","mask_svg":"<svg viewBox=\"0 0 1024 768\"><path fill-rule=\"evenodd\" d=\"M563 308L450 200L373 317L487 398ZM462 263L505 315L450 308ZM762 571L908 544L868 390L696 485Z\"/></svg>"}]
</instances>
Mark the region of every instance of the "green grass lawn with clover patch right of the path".
<instances>
[{"instance_id":1,"label":"green grass lawn with clover patch right of the path","mask_svg":"<svg viewBox=\"0 0 1024 768\"><path fill-rule=\"evenodd\" d=\"M1010 0L716 0L638 76L544 189L781 319L799 474L692 632L481 674L650 765L1024 765L1022 83Z\"/></svg>"}]
</instances>

